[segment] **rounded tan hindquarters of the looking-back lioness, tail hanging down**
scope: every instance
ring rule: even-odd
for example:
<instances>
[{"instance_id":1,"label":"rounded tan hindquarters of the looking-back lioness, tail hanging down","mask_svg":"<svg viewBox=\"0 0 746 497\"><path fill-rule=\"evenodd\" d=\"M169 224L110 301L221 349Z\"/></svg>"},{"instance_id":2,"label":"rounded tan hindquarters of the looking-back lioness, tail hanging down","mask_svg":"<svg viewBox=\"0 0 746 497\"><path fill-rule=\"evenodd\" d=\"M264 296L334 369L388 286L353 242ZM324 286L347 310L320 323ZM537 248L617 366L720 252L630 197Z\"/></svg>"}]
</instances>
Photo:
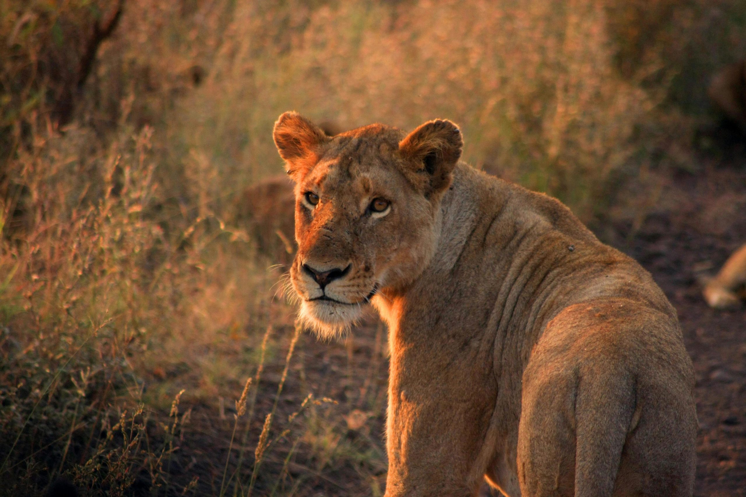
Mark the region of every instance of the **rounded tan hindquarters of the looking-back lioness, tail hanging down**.
<instances>
[{"instance_id":1,"label":"rounded tan hindquarters of the looking-back lioness, tail hanging down","mask_svg":"<svg viewBox=\"0 0 746 497\"><path fill-rule=\"evenodd\" d=\"M571 321L580 327L549 327L524 370L521 496L691 496L696 416L686 351L663 332L587 316Z\"/></svg>"}]
</instances>

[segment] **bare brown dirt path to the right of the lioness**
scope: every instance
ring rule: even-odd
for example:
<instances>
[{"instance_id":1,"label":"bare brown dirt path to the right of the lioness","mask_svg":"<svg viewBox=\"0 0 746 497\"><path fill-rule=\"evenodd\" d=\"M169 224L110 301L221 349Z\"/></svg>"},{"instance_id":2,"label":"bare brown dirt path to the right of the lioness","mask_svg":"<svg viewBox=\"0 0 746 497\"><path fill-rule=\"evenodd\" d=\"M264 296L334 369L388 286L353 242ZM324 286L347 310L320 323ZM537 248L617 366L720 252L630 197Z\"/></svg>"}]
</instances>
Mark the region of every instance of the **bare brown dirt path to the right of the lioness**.
<instances>
[{"instance_id":1,"label":"bare brown dirt path to the right of the lioness","mask_svg":"<svg viewBox=\"0 0 746 497\"><path fill-rule=\"evenodd\" d=\"M695 496L746 496L746 306L710 309L698 284L700 272L714 273L746 243L746 167L712 162L674 177L671 189L677 209L652 215L619 248L653 274L677 308L694 361Z\"/></svg>"}]
</instances>

